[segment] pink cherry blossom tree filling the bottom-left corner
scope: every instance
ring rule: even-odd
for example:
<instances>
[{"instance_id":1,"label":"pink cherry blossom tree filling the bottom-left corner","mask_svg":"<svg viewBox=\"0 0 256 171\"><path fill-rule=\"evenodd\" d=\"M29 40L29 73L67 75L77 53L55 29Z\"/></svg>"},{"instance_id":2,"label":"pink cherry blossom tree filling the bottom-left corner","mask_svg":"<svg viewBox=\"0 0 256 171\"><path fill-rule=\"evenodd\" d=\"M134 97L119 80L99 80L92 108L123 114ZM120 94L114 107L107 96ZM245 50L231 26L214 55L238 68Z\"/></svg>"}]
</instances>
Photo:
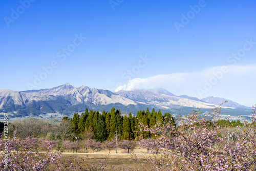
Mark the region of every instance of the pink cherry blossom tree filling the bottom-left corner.
<instances>
[{"instance_id":1,"label":"pink cherry blossom tree filling the bottom-left corner","mask_svg":"<svg viewBox=\"0 0 256 171\"><path fill-rule=\"evenodd\" d=\"M5 154L1 154L0 169L1 170L59 170L60 167L56 164L60 162L60 152L51 151L48 147L47 152L39 154L34 151L31 139L14 141L19 146L18 150L10 145L10 142L5 141L4 144L8 147ZM6 155L8 154L8 155ZM56 164L56 165L55 165Z\"/></svg>"}]
</instances>

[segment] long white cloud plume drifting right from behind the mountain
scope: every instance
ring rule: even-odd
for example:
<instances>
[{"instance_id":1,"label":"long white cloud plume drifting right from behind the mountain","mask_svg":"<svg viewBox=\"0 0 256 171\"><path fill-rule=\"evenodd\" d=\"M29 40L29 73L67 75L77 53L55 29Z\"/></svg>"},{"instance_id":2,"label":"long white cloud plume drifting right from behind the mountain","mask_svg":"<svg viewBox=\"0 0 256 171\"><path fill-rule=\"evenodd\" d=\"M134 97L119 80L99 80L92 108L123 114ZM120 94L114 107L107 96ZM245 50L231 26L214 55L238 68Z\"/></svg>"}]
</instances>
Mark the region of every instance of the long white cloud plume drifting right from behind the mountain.
<instances>
[{"instance_id":1,"label":"long white cloud plume drifting right from behind the mountain","mask_svg":"<svg viewBox=\"0 0 256 171\"><path fill-rule=\"evenodd\" d=\"M198 98L214 95L228 98L232 97L231 93L242 93L243 89L254 91L255 84L254 86L248 85L246 88L241 86L244 86L243 83L251 81L255 73L256 65L217 66L200 72L171 73L147 78L135 78L119 86L116 91L164 88L177 95L186 94ZM207 83L209 87L205 86ZM203 90L201 94L200 89Z\"/></svg>"}]
</instances>

